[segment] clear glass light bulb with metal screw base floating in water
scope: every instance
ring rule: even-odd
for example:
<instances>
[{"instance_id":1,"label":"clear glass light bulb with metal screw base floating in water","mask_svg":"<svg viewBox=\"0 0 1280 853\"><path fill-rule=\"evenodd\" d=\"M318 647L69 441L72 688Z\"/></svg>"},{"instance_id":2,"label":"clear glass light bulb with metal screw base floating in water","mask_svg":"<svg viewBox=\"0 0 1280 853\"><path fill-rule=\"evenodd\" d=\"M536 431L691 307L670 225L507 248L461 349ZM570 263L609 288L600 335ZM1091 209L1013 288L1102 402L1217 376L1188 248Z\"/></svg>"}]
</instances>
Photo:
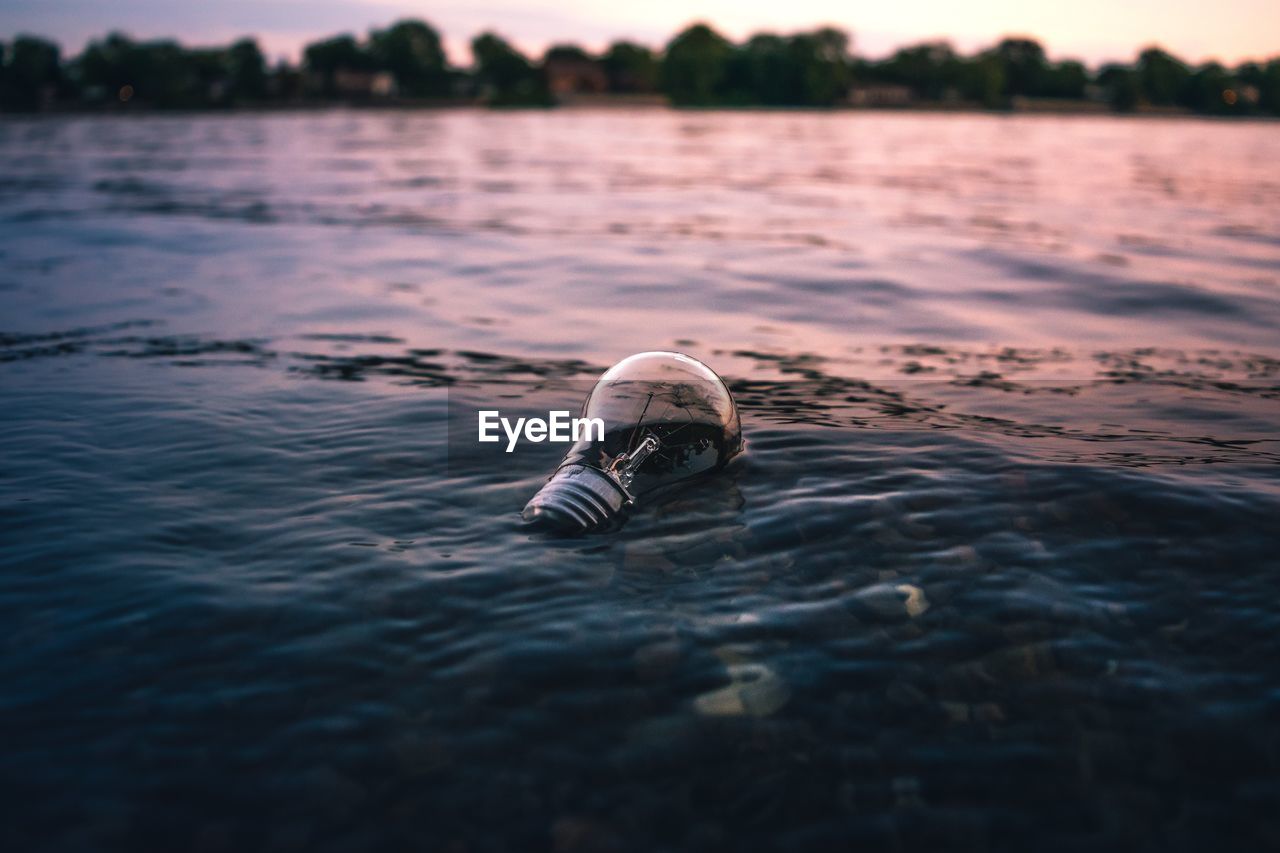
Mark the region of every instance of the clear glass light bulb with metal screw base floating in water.
<instances>
[{"instance_id":1,"label":"clear glass light bulb with metal screw base floating in water","mask_svg":"<svg viewBox=\"0 0 1280 853\"><path fill-rule=\"evenodd\" d=\"M641 352L609 368L582 403L590 430L525 507L525 521L593 530L645 496L719 470L742 450L737 406L710 368L678 352ZM595 441L593 441L595 439Z\"/></svg>"}]
</instances>

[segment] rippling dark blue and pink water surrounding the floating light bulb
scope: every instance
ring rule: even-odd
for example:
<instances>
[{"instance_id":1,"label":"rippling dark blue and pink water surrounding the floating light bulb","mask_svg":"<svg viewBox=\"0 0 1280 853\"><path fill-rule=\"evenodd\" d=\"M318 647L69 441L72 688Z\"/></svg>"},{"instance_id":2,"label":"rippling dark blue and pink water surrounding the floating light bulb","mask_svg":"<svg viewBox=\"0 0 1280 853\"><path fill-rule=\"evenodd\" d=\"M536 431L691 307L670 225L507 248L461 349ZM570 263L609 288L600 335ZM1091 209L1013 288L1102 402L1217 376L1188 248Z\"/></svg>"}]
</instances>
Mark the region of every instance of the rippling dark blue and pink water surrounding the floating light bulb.
<instances>
[{"instance_id":1,"label":"rippling dark blue and pink water surrounding the floating light bulb","mask_svg":"<svg viewBox=\"0 0 1280 853\"><path fill-rule=\"evenodd\" d=\"M12 849L1280 845L1280 134L0 122ZM745 455L518 512L675 348ZM500 457L500 459L499 459Z\"/></svg>"}]
</instances>

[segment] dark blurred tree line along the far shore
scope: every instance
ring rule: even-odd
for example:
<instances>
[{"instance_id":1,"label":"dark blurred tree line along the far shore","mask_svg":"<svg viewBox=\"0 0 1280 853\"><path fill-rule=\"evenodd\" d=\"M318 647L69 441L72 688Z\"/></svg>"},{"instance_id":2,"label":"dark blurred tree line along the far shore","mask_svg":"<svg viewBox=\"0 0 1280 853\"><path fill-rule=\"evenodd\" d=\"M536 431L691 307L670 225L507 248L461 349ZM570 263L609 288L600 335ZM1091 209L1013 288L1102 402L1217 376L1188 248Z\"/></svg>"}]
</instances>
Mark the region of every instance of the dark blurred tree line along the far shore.
<instances>
[{"instance_id":1,"label":"dark blurred tree line along the far shore","mask_svg":"<svg viewBox=\"0 0 1280 853\"><path fill-rule=\"evenodd\" d=\"M1052 61L1029 38L1005 38L972 55L947 42L867 59L849 35L824 27L758 33L735 44L707 24L677 33L663 50L628 41L600 54L556 45L530 58L500 36L471 41L472 65L449 64L439 32L401 20L366 37L339 35L307 45L298 65L269 67L252 38L225 47L173 40L95 40L69 59L54 42L0 42L0 109L143 105L207 109L333 101L485 102L543 106L571 93L664 96L677 106L954 104L1007 109L1028 100L1093 101L1117 111L1176 109L1216 115L1280 115L1280 56L1228 68L1193 65L1158 47L1132 64L1091 69Z\"/></svg>"}]
</instances>

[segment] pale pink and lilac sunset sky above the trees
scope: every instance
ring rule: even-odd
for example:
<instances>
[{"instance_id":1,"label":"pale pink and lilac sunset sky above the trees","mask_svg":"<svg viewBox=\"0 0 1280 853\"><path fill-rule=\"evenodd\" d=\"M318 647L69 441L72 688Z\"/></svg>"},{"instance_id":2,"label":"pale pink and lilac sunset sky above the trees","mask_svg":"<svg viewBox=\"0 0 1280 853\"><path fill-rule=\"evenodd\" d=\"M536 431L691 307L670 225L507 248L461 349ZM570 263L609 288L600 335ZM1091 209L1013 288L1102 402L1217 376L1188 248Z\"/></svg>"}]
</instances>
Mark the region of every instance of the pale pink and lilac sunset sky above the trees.
<instances>
[{"instance_id":1,"label":"pale pink and lilac sunset sky above the trees","mask_svg":"<svg viewBox=\"0 0 1280 853\"><path fill-rule=\"evenodd\" d=\"M1130 60L1152 44L1190 61L1280 55L1280 0L0 0L0 38L40 35L74 54L111 29L192 45L252 35L269 56L296 59L321 36L403 17L435 26L460 64L484 29L540 53L554 42L599 49L614 38L657 47L694 20L735 40L835 24L865 56L932 38L969 51L1005 35L1036 37L1053 58L1091 64Z\"/></svg>"}]
</instances>

